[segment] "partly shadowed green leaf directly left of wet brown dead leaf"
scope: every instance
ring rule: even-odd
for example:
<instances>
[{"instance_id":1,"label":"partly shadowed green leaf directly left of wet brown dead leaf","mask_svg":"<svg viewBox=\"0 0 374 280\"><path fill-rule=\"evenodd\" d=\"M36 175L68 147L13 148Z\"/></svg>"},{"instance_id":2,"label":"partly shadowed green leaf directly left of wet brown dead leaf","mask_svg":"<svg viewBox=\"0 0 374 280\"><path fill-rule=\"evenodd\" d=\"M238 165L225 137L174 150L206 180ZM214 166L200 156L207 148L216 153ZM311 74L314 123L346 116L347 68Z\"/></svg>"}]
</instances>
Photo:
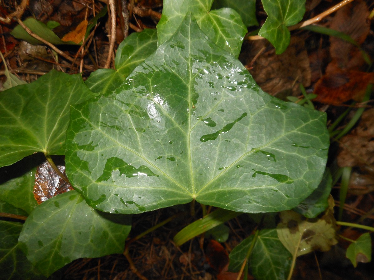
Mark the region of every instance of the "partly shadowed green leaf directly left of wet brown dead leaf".
<instances>
[{"instance_id":1,"label":"partly shadowed green leaf directly left of wet brown dead leaf","mask_svg":"<svg viewBox=\"0 0 374 280\"><path fill-rule=\"evenodd\" d=\"M36 155L29 156L0 168L0 199L28 214L37 206L33 189L39 158Z\"/></svg>"}]
</instances>

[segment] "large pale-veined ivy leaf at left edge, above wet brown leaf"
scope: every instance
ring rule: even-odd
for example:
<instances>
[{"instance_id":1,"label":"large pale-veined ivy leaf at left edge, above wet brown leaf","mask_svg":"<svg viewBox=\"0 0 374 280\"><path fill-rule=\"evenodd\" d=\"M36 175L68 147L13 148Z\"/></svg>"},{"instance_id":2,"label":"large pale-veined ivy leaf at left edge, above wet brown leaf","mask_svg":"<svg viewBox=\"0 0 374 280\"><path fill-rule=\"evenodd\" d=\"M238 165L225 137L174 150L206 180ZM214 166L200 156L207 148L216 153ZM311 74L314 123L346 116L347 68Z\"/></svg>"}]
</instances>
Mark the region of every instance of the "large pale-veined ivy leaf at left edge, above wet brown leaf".
<instances>
[{"instance_id":1,"label":"large pale-veined ivy leaf at left edge, above wet brown leaf","mask_svg":"<svg viewBox=\"0 0 374 280\"><path fill-rule=\"evenodd\" d=\"M64 155L71 104L92 97L82 77L50 71L0 93L0 167L36 152Z\"/></svg>"}]
</instances>

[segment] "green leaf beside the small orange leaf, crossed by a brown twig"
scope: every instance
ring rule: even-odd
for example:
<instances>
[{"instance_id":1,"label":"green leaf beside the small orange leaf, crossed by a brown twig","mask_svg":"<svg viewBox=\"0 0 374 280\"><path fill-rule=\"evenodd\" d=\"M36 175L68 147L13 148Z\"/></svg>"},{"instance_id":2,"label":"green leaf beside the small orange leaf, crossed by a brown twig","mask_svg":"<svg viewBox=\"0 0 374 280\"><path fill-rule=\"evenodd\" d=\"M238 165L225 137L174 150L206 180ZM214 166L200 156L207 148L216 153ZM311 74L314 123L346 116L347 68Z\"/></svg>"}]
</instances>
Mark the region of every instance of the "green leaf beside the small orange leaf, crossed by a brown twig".
<instances>
[{"instance_id":1,"label":"green leaf beside the small orange leaf, crossed by a brown twig","mask_svg":"<svg viewBox=\"0 0 374 280\"><path fill-rule=\"evenodd\" d=\"M76 45L76 43L72 41L62 41L56 34L53 32L47 25L45 25L41 21L37 21L34 18L28 18L23 22L34 34L38 35L40 38L46 40L47 42L53 45ZM24 40L33 45L43 45L41 41L35 39L30 34L27 33L25 29L21 27L21 25L17 25L12 32L11 35L16 37L19 40Z\"/></svg>"}]
</instances>

